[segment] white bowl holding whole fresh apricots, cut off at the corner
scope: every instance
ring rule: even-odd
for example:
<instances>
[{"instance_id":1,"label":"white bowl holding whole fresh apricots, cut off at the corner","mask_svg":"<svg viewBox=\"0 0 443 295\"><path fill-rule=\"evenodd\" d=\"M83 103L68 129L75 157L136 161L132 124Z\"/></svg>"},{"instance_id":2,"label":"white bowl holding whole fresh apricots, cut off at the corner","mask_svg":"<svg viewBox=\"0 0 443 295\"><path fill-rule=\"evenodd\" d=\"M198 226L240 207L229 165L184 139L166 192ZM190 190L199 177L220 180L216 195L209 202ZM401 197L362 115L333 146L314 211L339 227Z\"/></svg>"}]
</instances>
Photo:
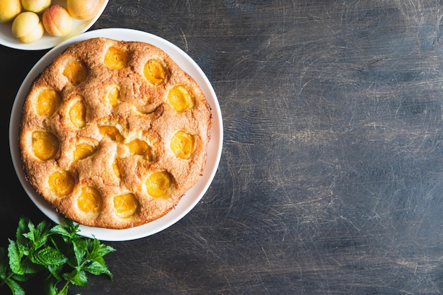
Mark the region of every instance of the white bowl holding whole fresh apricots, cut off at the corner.
<instances>
[{"instance_id":1,"label":"white bowl holding whole fresh apricots, cut off at the corner","mask_svg":"<svg viewBox=\"0 0 443 295\"><path fill-rule=\"evenodd\" d=\"M100 0L101 8L98 11L97 15L88 21L79 21L72 18L72 31L69 35L64 37L54 37L45 32L43 37L40 40L37 40L30 44L25 44L17 40L14 35L12 35L12 21L8 23L0 23L0 44L6 47L15 48L18 50L45 50L48 48L52 48L60 43L68 40L70 37L74 37L75 35L79 35L80 33L86 32L91 26L96 23L98 18L101 16L103 11L105 10L106 5L108 5L109 0ZM66 0L52 0L52 5L59 4L66 8ZM41 13L40 13L41 20Z\"/></svg>"}]
</instances>

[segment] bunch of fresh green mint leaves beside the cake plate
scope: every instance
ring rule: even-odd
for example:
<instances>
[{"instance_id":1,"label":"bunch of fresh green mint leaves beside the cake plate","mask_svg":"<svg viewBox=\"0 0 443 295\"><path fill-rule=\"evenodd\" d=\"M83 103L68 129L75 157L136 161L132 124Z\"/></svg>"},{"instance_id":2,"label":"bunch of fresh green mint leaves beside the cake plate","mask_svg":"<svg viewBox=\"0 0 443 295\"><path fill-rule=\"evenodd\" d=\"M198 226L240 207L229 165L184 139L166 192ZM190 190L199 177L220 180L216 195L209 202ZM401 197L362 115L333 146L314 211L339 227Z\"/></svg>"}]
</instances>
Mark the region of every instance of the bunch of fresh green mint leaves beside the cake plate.
<instances>
[{"instance_id":1,"label":"bunch of fresh green mint leaves beside the cake plate","mask_svg":"<svg viewBox=\"0 0 443 295\"><path fill-rule=\"evenodd\" d=\"M103 256L114 252L96 238L79 234L79 225L69 219L52 226L49 221L33 224L21 217L16 239L0 247L0 289L7 285L13 295L25 295L22 282L44 273L45 294L67 295L70 285L88 286L88 274L111 274Z\"/></svg>"}]
</instances>

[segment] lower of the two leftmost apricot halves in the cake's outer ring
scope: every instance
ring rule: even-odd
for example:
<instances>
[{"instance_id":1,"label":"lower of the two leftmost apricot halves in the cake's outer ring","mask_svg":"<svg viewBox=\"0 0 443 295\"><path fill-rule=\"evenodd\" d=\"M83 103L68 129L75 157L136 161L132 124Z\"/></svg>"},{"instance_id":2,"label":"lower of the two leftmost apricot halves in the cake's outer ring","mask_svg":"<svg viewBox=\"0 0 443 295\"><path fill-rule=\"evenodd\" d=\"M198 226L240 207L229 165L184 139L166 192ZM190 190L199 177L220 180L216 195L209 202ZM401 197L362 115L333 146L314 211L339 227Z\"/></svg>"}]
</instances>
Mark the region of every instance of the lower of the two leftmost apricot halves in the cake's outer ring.
<instances>
[{"instance_id":1,"label":"lower of the two leftmost apricot halves in the cake's outer ring","mask_svg":"<svg viewBox=\"0 0 443 295\"><path fill-rule=\"evenodd\" d=\"M33 132L32 142L34 155L42 161L54 158L57 151L59 151L59 139L50 132Z\"/></svg>"}]
</instances>

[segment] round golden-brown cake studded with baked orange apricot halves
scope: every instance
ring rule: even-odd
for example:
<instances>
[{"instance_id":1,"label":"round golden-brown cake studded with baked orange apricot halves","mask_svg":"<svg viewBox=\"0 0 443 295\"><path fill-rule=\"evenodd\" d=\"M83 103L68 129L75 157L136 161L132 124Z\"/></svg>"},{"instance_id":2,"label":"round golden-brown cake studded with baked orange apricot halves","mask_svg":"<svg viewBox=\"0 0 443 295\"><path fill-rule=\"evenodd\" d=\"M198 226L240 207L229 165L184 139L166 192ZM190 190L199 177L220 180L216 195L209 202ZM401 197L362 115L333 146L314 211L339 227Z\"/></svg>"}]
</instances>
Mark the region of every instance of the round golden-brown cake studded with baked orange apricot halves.
<instances>
[{"instance_id":1,"label":"round golden-brown cake studded with baked orange apricot halves","mask_svg":"<svg viewBox=\"0 0 443 295\"><path fill-rule=\"evenodd\" d=\"M159 219L197 183L211 126L200 86L166 52L97 37L33 81L18 140L26 178L59 213L127 229Z\"/></svg>"}]
</instances>

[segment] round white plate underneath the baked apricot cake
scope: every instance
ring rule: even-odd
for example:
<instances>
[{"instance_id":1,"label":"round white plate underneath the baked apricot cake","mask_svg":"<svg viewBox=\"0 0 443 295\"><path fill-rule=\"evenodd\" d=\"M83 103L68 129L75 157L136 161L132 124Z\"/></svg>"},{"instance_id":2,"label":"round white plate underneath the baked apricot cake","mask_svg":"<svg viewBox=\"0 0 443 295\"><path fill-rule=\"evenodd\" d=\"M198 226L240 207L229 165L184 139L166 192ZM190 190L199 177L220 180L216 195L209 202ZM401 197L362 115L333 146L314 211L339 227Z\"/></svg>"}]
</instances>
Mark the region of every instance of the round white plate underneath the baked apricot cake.
<instances>
[{"instance_id":1,"label":"round white plate underneath the baked apricot cake","mask_svg":"<svg viewBox=\"0 0 443 295\"><path fill-rule=\"evenodd\" d=\"M18 175L18 179L23 185L25 192L29 195L30 199L34 204L52 221L56 223L62 222L62 216L57 214L57 212L51 207L51 205L45 201L28 183L25 179L23 169L21 167L20 152L18 149L18 132L21 120L21 110L23 108L23 103L25 96L28 93L33 80L40 74L40 72L49 65L52 60L57 57L57 55L65 50L69 45L79 42L81 40L86 40L92 37L109 37L115 40L127 40L127 41L142 41L155 45L161 50L168 53L171 58L185 71L192 76L195 81L200 85L202 91L208 100L209 105L212 108L212 130L211 139L209 141L209 146L207 149L207 163L205 170L203 171L202 178L190 189L186 194L180 199L178 205L171 212L151 221L148 224L142 226L137 226L131 229L101 229L94 228L90 226L80 225L81 230L79 234L87 237L96 237L102 241L128 241L137 238L143 238L150 236L154 233L162 231L169 226L175 224L177 221L183 218L190 210L195 207L195 205L200 201L200 199L205 195L205 192L212 183L217 168L219 166L220 157L222 155L222 144L223 144L223 124L222 124L222 113L220 112L219 102L217 96L212 88L211 83L207 79L207 76L203 73L202 69L192 60L188 54L180 50L179 47L173 45L161 37L156 35L151 35L139 30L130 30L123 28L110 28L101 30L92 30L86 33L72 37L71 39L63 42L60 45L52 48L45 56L40 59L40 61L33 66L28 75L25 77L21 87L18 90L16 99L13 103L11 119L9 123L9 146L11 149L11 157L13 160L13 166Z\"/></svg>"}]
</instances>

